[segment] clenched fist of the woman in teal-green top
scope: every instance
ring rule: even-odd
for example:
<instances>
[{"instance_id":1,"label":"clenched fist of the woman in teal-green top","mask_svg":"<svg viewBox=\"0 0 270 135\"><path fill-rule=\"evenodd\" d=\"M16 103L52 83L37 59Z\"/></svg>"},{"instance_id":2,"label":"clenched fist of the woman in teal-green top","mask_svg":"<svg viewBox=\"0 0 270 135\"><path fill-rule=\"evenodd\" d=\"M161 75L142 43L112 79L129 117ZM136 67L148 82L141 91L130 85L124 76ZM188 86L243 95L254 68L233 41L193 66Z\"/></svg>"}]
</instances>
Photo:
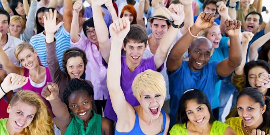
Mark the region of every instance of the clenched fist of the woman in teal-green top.
<instances>
[{"instance_id":1,"label":"clenched fist of the woman in teal-green top","mask_svg":"<svg viewBox=\"0 0 270 135\"><path fill-rule=\"evenodd\" d=\"M58 98L59 88L56 83L48 82L46 86L43 87L41 96L48 101L52 101Z\"/></svg>"}]
</instances>

